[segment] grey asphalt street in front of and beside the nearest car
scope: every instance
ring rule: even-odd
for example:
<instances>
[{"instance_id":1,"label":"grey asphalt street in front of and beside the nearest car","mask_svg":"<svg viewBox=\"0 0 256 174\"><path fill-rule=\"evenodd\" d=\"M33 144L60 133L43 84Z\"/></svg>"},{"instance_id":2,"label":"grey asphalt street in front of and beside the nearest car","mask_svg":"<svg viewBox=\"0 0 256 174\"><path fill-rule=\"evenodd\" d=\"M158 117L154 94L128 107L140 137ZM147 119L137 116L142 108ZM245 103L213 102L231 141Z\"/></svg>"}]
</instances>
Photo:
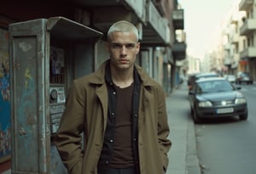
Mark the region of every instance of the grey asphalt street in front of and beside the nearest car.
<instances>
[{"instance_id":1,"label":"grey asphalt street in front of and beside the nearest car","mask_svg":"<svg viewBox=\"0 0 256 174\"><path fill-rule=\"evenodd\" d=\"M195 125L201 174L254 174L256 171L256 85L241 85L248 119L238 117Z\"/></svg>"}]
</instances>

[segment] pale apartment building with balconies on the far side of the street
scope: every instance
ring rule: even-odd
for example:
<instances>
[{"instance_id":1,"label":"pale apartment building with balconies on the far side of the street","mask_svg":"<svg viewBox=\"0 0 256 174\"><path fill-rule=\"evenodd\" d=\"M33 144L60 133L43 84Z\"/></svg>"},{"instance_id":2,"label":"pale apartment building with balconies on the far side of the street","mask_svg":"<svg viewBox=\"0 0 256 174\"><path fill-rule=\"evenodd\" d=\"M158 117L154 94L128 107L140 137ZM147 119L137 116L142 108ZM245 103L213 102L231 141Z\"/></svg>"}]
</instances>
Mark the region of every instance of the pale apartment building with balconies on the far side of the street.
<instances>
[{"instance_id":1,"label":"pale apartment building with balconies on the far side of the street","mask_svg":"<svg viewBox=\"0 0 256 174\"><path fill-rule=\"evenodd\" d=\"M236 0L214 49L216 67L222 75L247 72L256 81L256 6L254 0ZM217 64L220 63L219 64Z\"/></svg>"}]
</instances>

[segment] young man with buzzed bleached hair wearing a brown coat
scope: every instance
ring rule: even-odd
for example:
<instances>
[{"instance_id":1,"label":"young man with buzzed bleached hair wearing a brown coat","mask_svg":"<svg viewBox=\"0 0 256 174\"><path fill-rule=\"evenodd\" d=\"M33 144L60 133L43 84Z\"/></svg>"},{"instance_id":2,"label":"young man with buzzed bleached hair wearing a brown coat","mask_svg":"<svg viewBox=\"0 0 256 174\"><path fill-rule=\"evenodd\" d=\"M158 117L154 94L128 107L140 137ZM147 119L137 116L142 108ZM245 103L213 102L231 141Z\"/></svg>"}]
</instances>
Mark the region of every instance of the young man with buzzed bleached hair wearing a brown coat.
<instances>
[{"instance_id":1,"label":"young man with buzzed bleached hair wearing a brown coat","mask_svg":"<svg viewBox=\"0 0 256 174\"><path fill-rule=\"evenodd\" d=\"M61 160L71 174L164 173L172 144L165 93L135 65L137 28L114 23L107 48L110 59L69 89L55 135Z\"/></svg>"}]
</instances>

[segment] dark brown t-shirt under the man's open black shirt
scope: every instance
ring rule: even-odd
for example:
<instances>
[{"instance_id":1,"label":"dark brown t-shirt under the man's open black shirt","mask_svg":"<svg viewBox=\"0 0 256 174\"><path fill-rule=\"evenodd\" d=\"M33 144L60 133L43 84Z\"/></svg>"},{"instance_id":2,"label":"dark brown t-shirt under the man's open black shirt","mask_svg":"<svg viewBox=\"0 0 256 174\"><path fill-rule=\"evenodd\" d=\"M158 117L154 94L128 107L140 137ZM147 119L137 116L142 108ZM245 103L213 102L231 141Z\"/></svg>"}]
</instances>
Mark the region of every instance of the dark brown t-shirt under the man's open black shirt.
<instances>
[{"instance_id":1,"label":"dark brown t-shirt under the man's open black shirt","mask_svg":"<svg viewBox=\"0 0 256 174\"><path fill-rule=\"evenodd\" d=\"M113 168L125 168L129 166L134 166L131 143L131 111L133 83L130 87L116 87L116 92L116 126L113 156L110 162L110 166Z\"/></svg>"}]
</instances>

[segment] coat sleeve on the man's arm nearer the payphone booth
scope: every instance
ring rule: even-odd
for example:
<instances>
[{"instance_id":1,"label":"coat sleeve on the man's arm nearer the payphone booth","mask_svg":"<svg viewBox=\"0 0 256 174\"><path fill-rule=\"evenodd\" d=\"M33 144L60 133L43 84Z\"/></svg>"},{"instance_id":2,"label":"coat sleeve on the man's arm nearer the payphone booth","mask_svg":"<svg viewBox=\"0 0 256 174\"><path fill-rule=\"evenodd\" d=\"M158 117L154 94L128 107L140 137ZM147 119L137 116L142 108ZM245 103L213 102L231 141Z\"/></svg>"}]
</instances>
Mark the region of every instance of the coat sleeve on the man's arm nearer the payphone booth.
<instances>
[{"instance_id":1,"label":"coat sleeve on the man's arm nearer the payphone booth","mask_svg":"<svg viewBox=\"0 0 256 174\"><path fill-rule=\"evenodd\" d=\"M62 163L71 174L82 173L82 127L84 123L84 92L73 81L67 95L66 109L55 134L54 143Z\"/></svg>"}]
</instances>

